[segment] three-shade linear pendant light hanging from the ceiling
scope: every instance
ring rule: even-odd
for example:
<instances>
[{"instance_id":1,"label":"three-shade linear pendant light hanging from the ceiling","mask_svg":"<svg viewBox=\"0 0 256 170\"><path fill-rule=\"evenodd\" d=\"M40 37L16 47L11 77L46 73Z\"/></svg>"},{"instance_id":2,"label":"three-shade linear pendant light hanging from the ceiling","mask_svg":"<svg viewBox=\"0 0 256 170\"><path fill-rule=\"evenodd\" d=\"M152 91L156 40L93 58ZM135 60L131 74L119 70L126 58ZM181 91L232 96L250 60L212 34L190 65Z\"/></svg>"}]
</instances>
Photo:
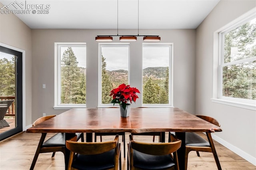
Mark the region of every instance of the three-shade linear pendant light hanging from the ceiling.
<instances>
[{"instance_id":1,"label":"three-shade linear pendant light hanging from the ceiling","mask_svg":"<svg viewBox=\"0 0 256 170\"><path fill-rule=\"evenodd\" d=\"M117 0L117 35L112 36L97 36L95 37L96 42L112 42L113 37L120 36L121 42L136 42L137 37L143 37L144 42L159 42L161 38L159 36L141 36L139 35L139 0L138 0L138 35L118 35L118 0Z\"/></svg>"}]
</instances>

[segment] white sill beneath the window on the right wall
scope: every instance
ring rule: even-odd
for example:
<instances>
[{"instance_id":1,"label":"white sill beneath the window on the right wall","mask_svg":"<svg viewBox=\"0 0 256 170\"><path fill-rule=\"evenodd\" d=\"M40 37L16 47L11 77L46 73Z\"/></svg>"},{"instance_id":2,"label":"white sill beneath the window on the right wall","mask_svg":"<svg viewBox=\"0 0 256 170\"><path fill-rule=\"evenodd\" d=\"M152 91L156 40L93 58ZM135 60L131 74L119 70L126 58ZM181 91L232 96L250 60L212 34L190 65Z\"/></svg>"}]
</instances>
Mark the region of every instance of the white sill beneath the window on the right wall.
<instances>
[{"instance_id":1,"label":"white sill beneath the window on the right wall","mask_svg":"<svg viewBox=\"0 0 256 170\"><path fill-rule=\"evenodd\" d=\"M214 103L220 103L223 105L230 105L230 106L234 106L234 107L240 107L243 109L250 109L250 110L256 111L256 103L255 104L242 103L242 102L238 102L238 101L230 101L230 100L224 100L224 99L211 99L211 100Z\"/></svg>"}]
</instances>

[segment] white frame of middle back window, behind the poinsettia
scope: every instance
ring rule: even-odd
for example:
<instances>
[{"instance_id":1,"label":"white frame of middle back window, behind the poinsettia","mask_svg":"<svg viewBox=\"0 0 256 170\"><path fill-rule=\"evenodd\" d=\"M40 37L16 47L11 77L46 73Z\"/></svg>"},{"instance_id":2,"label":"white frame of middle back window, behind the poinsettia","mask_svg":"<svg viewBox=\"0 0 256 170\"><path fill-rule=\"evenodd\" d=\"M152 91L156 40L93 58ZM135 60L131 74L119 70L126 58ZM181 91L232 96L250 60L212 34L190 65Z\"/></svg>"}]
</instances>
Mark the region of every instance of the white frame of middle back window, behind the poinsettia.
<instances>
[{"instance_id":1,"label":"white frame of middle back window, behind the poinsettia","mask_svg":"<svg viewBox=\"0 0 256 170\"><path fill-rule=\"evenodd\" d=\"M98 107L113 107L113 103L109 103L109 104L102 104L101 103L101 98L102 98L102 92L101 92L101 79L102 79L102 71L101 71L101 53L102 47L128 47L128 84L130 84L130 43L99 43L99 79L98 79ZM118 107L118 104L115 104L115 107Z\"/></svg>"}]
</instances>

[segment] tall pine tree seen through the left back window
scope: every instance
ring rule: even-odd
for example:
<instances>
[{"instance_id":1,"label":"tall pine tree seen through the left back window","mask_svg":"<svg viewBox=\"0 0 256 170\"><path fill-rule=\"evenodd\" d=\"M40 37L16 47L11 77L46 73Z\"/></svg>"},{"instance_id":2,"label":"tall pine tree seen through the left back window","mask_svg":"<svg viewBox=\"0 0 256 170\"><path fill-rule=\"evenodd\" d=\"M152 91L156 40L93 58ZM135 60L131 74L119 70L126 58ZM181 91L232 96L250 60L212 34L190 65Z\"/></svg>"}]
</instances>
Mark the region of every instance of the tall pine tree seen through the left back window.
<instances>
[{"instance_id":1,"label":"tall pine tree seen through the left back window","mask_svg":"<svg viewBox=\"0 0 256 170\"><path fill-rule=\"evenodd\" d=\"M61 103L76 104L81 83L78 61L72 47L68 47L61 59Z\"/></svg>"}]
</instances>

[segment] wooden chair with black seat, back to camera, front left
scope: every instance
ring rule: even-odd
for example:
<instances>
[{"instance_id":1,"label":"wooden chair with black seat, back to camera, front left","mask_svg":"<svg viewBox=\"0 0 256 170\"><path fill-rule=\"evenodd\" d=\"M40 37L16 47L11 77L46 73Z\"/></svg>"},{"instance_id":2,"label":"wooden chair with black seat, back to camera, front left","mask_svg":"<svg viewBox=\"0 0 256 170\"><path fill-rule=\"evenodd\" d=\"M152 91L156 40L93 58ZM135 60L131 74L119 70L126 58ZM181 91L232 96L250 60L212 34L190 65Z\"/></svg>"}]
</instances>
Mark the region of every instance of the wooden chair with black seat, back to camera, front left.
<instances>
[{"instance_id":1,"label":"wooden chair with black seat, back to camera, front left","mask_svg":"<svg viewBox=\"0 0 256 170\"><path fill-rule=\"evenodd\" d=\"M70 150L68 170L117 170L121 165L119 136L108 142L75 142L76 136L66 141Z\"/></svg>"}]
</instances>

